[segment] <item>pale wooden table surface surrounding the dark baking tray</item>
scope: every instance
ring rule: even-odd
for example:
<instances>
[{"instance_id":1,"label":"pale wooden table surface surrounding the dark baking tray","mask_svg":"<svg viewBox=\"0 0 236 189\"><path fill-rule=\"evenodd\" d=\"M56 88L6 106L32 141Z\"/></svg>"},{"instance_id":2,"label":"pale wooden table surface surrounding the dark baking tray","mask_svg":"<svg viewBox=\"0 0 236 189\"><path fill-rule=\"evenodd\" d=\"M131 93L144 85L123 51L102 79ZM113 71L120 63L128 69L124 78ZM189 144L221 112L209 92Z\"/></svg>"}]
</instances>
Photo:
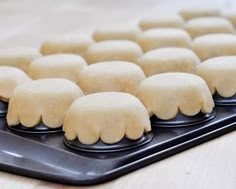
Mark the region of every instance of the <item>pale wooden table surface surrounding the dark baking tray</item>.
<instances>
[{"instance_id":1,"label":"pale wooden table surface surrounding the dark baking tray","mask_svg":"<svg viewBox=\"0 0 236 189\"><path fill-rule=\"evenodd\" d=\"M196 1L193 1L196 3ZM55 34L87 33L104 26L135 25L145 16L177 11L183 0L1 0L0 48L39 47ZM233 0L201 0L235 8ZM105 184L86 188L236 188L236 132L227 134ZM75 188L0 172L1 188Z\"/></svg>"}]
</instances>

